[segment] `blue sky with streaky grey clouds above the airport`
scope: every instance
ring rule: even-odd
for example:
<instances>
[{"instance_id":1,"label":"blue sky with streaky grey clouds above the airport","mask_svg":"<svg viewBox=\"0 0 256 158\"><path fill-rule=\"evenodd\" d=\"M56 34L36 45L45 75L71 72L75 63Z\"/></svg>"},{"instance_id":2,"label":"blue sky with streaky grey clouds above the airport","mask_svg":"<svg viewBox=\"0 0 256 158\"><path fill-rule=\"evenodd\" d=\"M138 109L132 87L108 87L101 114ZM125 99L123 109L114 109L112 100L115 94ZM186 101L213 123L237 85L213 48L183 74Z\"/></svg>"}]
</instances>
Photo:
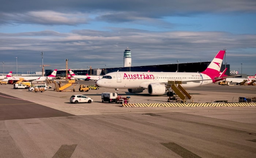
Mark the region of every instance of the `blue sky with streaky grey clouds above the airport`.
<instances>
[{"instance_id":1,"label":"blue sky with streaky grey clouds above the airport","mask_svg":"<svg viewBox=\"0 0 256 158\"><path fill-rule=\"evenodd\" d=\"M12 0L0 6L0 72L211 61L256 74L254 0ZM243 63L241 65L241 63ZM242 66L242 67L241 67Z\"/></svg>"}]
</instances>

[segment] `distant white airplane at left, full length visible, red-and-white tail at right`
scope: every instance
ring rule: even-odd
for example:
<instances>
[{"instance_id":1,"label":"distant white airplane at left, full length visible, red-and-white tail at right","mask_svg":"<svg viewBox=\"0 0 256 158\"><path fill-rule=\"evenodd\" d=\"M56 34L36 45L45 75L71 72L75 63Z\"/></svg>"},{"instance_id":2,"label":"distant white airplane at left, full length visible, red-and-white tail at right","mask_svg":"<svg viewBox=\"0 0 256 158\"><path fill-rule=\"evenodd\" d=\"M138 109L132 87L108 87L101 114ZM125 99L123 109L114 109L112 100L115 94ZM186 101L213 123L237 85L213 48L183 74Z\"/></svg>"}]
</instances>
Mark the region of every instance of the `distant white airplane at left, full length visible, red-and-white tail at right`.
<instances>
[{"instance_id":1,"label":"distant white airplane at left, full length visible, red-and-white tail at right","mask_svg":"<svg viewBox=\"0 0 256 158\"><path fill-rule=\"evenodd\" d=\"M25 81L29 81L29 82L37 82L37 81L45 81L45 80L52 80L54 78L56 78L56 72L57 69L55 69L52 74L50 74L49 76L20 76L20 77L7 77L5 79L3 79L3 81L9 81L9 80L13 80L13 81L18 81L18 80L25 80Z\"/></svg>"}]
</instances>

